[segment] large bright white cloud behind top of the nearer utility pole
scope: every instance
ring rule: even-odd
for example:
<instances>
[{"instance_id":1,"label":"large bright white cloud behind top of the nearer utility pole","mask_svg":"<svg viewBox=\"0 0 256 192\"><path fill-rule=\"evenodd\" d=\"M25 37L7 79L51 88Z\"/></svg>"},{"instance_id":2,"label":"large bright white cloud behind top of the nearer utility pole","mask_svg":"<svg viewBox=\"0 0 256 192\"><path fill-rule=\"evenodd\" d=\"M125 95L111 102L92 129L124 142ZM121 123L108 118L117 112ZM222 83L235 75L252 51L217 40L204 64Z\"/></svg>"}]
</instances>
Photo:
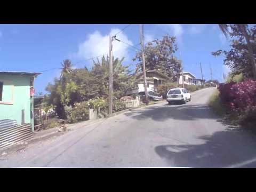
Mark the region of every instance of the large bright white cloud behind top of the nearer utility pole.
<instances>
[{"instance_id":1,"label":"large bright white cloud behind top of the nearer utility pole","mask_svg":"<svg viewBox=\"0 0 256 192\"><path fill-rule=\"evenodd\" d=\"M111 29L111 35L115 35L120 31L120 29ZM78 58L89 59L92 57L97 57L99 55L108 55L109 53L109 34L102 35L100 31L95 31L92 34L87 35L86 40L79 44L78 52L75 54ZM133 45L132 41L123 33L118 34L116 37L121 41ZM129 58L128 49L129 45L122 42L113 41L113 55L118 58Z\"/></svg>"}]
</instances>

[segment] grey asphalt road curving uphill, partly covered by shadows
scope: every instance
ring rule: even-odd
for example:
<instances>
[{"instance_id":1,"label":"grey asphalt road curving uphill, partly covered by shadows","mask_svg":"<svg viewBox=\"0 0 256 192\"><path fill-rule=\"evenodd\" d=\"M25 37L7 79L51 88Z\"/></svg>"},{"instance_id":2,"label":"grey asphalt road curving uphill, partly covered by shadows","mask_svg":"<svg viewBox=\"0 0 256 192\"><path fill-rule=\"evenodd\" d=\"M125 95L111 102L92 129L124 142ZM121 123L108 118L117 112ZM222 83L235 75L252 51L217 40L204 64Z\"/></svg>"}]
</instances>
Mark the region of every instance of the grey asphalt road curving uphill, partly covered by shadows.
<instances>
[{"instance_id":1,"label":"grey asphalt road curving uphill, partly covered by shadows","mask_svg":"<svg viewBox=\"0 0 256 192\"><path fill-rule=\"evenodd\" d=\"M161 102L35 143L0 167L256 167L255 135L223 123L206 103ZM86 123L85 123L86 124Z\"/></svg>"}]
</instances>

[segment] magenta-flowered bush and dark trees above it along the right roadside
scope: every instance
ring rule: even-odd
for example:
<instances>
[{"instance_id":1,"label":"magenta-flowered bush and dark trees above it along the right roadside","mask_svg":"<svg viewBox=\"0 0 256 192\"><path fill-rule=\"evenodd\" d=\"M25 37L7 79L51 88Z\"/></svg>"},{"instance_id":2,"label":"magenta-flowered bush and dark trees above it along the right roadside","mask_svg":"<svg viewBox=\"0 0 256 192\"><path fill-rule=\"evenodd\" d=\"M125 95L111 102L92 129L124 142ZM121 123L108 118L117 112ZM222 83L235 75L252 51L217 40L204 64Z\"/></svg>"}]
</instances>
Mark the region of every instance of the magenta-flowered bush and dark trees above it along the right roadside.
<instances>
[{"instance_id":1,"label":"magenta-flowered bush and dark trees above it along the right roadside","mask_svg":"<svg viewBox=\"0 0 256 192\"><path fill-rule=\"evenodd\" d=\"M231 38L229 51L223 54L224 64L231 69L226 82L218 87L209 100L209 106L231 123L255 130L256 127L256 26L245 24L221 25L223 33Z\"/></svg>"}]
</instances>

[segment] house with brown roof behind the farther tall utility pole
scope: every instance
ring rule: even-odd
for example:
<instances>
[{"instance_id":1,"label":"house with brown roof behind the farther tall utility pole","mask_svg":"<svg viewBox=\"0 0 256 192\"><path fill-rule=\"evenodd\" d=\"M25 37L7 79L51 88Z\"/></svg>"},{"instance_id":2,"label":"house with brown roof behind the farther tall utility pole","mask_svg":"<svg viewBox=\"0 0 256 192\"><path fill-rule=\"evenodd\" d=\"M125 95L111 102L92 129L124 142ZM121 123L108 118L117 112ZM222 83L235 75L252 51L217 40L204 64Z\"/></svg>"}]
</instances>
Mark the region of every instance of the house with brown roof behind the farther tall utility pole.
<instances>
[{"instance_id":1,"label":"house with brown roof behind the farther tall utility pole","mask_svg":"<svg viewBox=\"0 0 256 192\"><path fill-rule=\"evenodd\" d=\"M127 92L127 94L133 94L145 91L144 83L143 83L143 73L139 73L136 75L138 89L134 89L132 91ZM169 77L160 73L156 70L148 70L146 71L146 82L147 82L147 91L156 91L158 85L162 85L168 81L171 81Z\"/></svg>"}]
</instances>

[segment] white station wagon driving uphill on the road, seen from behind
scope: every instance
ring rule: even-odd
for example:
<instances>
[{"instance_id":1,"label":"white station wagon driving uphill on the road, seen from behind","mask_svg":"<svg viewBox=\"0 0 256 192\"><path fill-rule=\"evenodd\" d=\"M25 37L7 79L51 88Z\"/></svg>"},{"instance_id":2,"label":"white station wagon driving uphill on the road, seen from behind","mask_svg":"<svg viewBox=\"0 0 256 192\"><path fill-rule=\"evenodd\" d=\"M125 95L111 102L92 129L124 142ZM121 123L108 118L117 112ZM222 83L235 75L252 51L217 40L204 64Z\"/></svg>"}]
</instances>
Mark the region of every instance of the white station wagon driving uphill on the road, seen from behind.
<instances>
[{"instance_id":1,"label":"white station wagon driving uphill on the road, seen from behind","mask_svg":"<svg viewBox=\"0 0 256 192\"><path fill-rule=\"evenodd\" d=\"M187 89L184 88L173 88L167 92L166 101L170 104L174 101L181 101L186 103L187 101L191 101L191 94Z\"/></svg>"}]
</instances>

